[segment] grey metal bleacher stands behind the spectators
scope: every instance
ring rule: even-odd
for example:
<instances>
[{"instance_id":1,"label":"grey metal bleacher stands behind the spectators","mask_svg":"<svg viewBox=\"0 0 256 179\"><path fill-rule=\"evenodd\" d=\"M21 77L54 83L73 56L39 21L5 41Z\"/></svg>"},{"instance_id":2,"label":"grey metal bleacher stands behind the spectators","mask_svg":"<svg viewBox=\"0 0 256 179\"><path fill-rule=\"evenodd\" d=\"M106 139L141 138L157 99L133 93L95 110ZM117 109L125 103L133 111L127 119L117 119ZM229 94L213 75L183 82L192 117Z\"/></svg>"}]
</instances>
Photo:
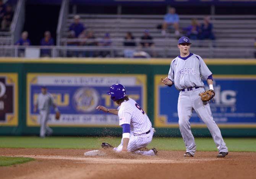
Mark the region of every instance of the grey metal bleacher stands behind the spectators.
<instances>
[{"instance_id":1,"label":"grey metal bleacher stands behind the spectators","mask_svg":"<svg viewBox=\"0 0 256 179\"><path fill-rule=\"evenodd\" d=\"M52 57L65 57L70 56L68 54L78 54L71 53L78 50L79 52L95 51L96 55L94 56L100 56L100 53L107 52L109 54L108 56L111 57L123 57L126 49L131 49L135 52L149 52L150 49L145 49L139 45L143 32L147 30L153 38L154 47L151 50L154 51L157 58L173 58L177 56L178 37L175 35L174 29L169 29L165 35L162 35L161 29L159 29L164 15L77 14L69 13L71 9L70 5L68 0L62 1L57 27L57 46L51 46L49 48L32 46L33 48L39 48L39 50L50 49ZM13 8L15 9L15 14L10 31L0 32L0 56L18 56L17 52L21 47L13 45L19 39L21 30L23 29L24 7L25 0L17 1L16 8ZM80 42L86 40L86 38L68 37L70 34L69 27L73 23L75 15L81 17L80 22L84 24L86 31L93 31L97 42L101 42L105 34L109 33L112 43L107 46L76 46L76 44L83 44ZM179 16L180 29L188 26L193 18L197 19L199 24L201 24L205 17L205 15ZM193 40L192 51L200 54L204 58L254 58L255 21L256 15L211 15L211 23L214 27L216 40ZM131 32L135 37L136 47L125 47L123 45L127 32Z\"/></svg>"}]
</instances>

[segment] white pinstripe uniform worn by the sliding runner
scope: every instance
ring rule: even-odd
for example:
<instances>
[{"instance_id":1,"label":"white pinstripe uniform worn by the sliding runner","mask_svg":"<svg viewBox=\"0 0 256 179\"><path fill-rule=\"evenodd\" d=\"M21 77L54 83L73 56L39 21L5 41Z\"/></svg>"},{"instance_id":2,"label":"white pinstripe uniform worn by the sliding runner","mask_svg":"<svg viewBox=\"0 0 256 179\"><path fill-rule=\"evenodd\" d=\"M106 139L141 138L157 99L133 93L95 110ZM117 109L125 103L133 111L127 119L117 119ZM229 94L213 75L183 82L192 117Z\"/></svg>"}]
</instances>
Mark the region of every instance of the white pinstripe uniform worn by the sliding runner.
<instances>
[{"instance_id":1,"label":"white pinstripe uniform worn by the sliding runner","mask_svg":"<svg viewBox=\"0 0 256 179\"><path fill-rule=\"evenodd\" d=\"M119 125L130 124L131 133L128 143L127 151L133 152L139 148L146 147L153 137L152 124L143 111L143 109L131 98L128 101L124 101L118 107ZM114 148L117 152L123 148L123 140L121 144ZM149 151L136 151L135 153L142 155L155 155L153 150Z\"/></svg>"}]
</instances>

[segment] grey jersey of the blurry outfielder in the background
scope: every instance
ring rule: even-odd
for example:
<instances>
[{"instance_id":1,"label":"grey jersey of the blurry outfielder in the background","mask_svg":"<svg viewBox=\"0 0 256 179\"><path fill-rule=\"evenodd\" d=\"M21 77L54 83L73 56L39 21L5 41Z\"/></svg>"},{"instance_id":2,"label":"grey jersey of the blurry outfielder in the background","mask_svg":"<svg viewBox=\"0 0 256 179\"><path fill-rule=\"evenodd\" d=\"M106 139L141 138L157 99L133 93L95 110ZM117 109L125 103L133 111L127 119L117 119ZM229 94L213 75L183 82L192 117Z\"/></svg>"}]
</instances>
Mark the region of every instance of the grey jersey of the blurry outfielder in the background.
<instances>
[{"instance_id":1,"label":"grey jersey of the blurry outfielder in the background","mask_svg":"<svg viewBox=\"0 0 256 179\"><path fill-rule=\"evenodd\" d=\"M40 93L37 97L36 103L39 110L50 111L50 107L54 104L54 100L50 93L46 93L45 95Z\"/></svg>"}]
</instances>

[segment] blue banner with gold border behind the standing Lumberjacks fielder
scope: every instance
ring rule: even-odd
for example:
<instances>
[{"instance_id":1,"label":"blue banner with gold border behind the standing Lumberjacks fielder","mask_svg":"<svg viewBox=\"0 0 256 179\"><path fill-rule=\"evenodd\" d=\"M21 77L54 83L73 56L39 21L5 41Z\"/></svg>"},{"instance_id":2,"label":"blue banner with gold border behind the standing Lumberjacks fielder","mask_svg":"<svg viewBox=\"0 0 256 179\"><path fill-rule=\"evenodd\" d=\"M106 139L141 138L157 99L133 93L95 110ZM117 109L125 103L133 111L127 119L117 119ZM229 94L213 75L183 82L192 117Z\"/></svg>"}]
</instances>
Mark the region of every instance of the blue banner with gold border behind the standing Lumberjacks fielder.
<instances>
[{"instance_id":1,"label":"blue banner with gold border behind the standing Lumberjacks fielder","mask_svg":"<svg viewBox=\"0 0 256 179\"><path fill-rule=\"evenodd\" d=\"M179 91L173 85L163 85L155 75L155 127L178 127L177 104ZM205 90L208 85L205 82ZM256 76L214 75L214 102L210 103L212 116L219 127L256 127ZM193 127L206 127L194 112L190 118Z\"/></svg>"}]
</instances>

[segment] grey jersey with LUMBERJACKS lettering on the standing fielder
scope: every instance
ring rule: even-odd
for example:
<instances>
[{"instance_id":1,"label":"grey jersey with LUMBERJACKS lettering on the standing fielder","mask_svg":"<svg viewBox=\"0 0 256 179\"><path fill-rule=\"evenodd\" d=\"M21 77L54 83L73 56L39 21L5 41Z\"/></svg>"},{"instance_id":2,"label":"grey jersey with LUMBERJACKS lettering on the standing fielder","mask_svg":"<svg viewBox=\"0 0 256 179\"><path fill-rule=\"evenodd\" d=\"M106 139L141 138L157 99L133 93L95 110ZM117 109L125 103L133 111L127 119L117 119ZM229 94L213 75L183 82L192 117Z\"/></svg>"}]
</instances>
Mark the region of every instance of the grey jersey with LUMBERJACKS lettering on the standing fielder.
<instances>
[{"instance_id":1,"label":"grey jersey with LUMBERJACKS lettering on the standing fielder","mask_svg":"<svg viewBox=\"0 0 256 179\"><path fill-rule=\"evenodd\" d=\"M177 56L172 60L168 78L174 82L176 89L182 90L189 87L204 87L202 79L207 80L211 74L201 56L190 53L185 58Z\"/></svg>"}]
</instances>

